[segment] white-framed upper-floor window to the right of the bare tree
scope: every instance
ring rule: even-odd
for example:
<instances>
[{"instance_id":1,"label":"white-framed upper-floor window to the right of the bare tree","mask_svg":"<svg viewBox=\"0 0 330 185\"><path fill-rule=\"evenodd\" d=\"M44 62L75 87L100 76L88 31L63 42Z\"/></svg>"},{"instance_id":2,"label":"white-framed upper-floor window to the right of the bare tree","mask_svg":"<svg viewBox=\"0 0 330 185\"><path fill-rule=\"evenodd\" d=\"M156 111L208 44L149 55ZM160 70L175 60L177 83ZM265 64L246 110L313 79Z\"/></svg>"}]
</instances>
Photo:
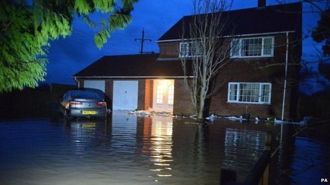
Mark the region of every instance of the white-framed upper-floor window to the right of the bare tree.
<instances>
[{"instance_id":1,"label":"white-framed upper-floor window to the right of the bare tree","mask_svg":"<svg viewBox=\"0 0 330 185\"><path fill-rule=\"evenodd\" d=\"M273 56L274 37L239 38L231 41L231 57Z\"/></svg>"}]
</instances>

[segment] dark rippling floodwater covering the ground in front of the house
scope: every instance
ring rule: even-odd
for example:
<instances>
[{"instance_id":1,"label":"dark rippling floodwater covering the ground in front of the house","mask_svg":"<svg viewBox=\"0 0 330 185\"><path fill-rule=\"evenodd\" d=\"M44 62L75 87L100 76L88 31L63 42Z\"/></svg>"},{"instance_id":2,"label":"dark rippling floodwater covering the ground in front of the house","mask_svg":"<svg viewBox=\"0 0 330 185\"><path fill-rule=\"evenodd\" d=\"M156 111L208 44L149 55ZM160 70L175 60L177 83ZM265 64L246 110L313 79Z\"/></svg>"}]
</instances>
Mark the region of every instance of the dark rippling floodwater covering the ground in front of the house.
<instances>
[{"instance_id":1,"label":"dark rippling floodwater covering the ground in front of the house","mask_svg":"<svg viewBox=\"0 0 330 185\"><path fill-rule=\"evenodd\" d=\"M0 184L208 185L219 184L221 168L235 171L237 181L242 182L262 154L267 130L273 136L282 133L285 137L280 126L264 123L220 119L196 124L190 118L127 113L112 113L105 121L1 120ZM286 130L284 133L288 133ZM278 139L273 139L272 148L278 144ZM328 157L330 148L325 145L324 149L324 145L316 146L325 152L318 163ZM287 163L283 157L295 152L300 154L298 150L280 149L275 155L273 180L296 183L291 174L277 172L281 165L288 169L299 165ZM319 171L309 175L315 173ZM317 178L316 183L320 182Z\"/></svg>"}]
</instances>

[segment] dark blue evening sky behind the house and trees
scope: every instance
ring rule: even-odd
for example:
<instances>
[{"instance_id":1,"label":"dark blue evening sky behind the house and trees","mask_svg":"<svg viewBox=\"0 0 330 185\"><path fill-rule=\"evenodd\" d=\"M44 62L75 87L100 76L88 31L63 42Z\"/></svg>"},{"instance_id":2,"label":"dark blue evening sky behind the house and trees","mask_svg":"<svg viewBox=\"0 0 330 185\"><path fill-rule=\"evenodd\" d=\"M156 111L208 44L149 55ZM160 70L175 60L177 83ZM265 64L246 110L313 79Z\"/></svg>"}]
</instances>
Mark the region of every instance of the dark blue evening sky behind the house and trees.
<instances>
[{"instance_id":1,"label":"dark blue evening sky behind the house and trees","mask_svg":"<svg viewBox=\"0 0 330 185\"><path fill-rule=\"evenodd\" d=\"M294 2L297 0L291 0ZM277 4L275 0L266 0L266 5ZM256 7L257 0L234 0L231 9ZM145 38L152 41L145 41L143 51L159 52L156 40L168 30L183 15L191 14L192 0L141 0L134 5L132 11L132 22L124 30L117 30L112 33L111 38L100 50L95 46L93 36L95 30L88 27L80 19L73 21L73 32L65 39L52 41L49 48L47 64L46 83L74 84L71 76L86 66L90 65L104 55L137 54L140 49L140 42L134 38L141 37L141 30L144 27ZM303 4L303 32L307 33L317 24L319 16L310 12L310 5ZM99 21L100 14L95 13L92 19ZM320 48L311 39L303 41L303 53L315 55L316 48ZM313 61L315 57L305 57ZM316 68L316 65L312 65ZM301 84L304 88L312 91L321 90L322 87L315 83Z\"/></svg>"}]
</instances>

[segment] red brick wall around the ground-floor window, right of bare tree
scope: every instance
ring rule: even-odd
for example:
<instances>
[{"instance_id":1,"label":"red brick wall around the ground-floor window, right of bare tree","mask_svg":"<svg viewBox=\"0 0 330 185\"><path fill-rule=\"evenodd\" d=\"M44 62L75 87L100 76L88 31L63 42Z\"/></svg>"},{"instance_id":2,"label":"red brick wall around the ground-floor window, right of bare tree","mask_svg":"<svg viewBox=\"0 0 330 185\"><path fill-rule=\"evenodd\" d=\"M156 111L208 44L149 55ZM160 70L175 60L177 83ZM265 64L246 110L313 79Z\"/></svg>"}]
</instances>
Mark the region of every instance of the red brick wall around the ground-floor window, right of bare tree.
<instances>
[{"instance_id":1,"label":"red brick wall around the ground-floor window, right of bare tree","mask_svg":"<svg viewBox=\"0 0 330 185\"><path fill-rule=\"evenodd\" d=\"M274 57L270 58L243 58L230 61L220 72L218 80L224 85L218 92L211 97L209 114L234 115L240 116L247 112L251 118L274 117L281 119L284 65L274 65L269 67L262 66L274 63L285 63L286 35L276 35L274 42ZM292 60L293 52L289 54L289 62ZM260 68L261 67L261 68ZM288 68L288 82L292 76L297 77L298 69L295 66ZM246 104L246 103L227 103L228 82L269 82L271 83L271 102L270 105ZM297 88L297 84L287 83L284 119L289 119L290 101L292 88Z\"/></svg>"}]
</instances>

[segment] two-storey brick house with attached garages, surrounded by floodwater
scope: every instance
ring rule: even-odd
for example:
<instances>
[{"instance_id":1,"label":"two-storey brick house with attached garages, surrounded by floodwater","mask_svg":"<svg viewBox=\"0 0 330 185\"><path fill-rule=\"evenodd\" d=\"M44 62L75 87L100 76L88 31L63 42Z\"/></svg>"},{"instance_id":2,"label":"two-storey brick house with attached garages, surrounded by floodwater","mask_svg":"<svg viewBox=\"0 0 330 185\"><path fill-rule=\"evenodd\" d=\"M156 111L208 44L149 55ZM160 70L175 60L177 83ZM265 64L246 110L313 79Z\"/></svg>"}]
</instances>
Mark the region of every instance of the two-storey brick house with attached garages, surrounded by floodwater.
<instances>
[{"instance_id":1,"label":"two-storey brick house with attached garages, surrounded by floodwater","mask_svg":"<svg viewBox=\"0 0 330 185\"><path fill-rule=\"evenodd\" d=\"M264 6L259 0L258 7L223 12L228 36L234 29L234 39L224 36L231 60L218 75L223 86L208 100L207 114L295 117L298 85L291 82L300 70L301 9L300 2ZM72 77L79 87L101 89L112 110L194 115L180 62L190 45L179 35L190 20L182 17L157 40L157 54L103 56Z\"/></svg>"}]
</instances>

